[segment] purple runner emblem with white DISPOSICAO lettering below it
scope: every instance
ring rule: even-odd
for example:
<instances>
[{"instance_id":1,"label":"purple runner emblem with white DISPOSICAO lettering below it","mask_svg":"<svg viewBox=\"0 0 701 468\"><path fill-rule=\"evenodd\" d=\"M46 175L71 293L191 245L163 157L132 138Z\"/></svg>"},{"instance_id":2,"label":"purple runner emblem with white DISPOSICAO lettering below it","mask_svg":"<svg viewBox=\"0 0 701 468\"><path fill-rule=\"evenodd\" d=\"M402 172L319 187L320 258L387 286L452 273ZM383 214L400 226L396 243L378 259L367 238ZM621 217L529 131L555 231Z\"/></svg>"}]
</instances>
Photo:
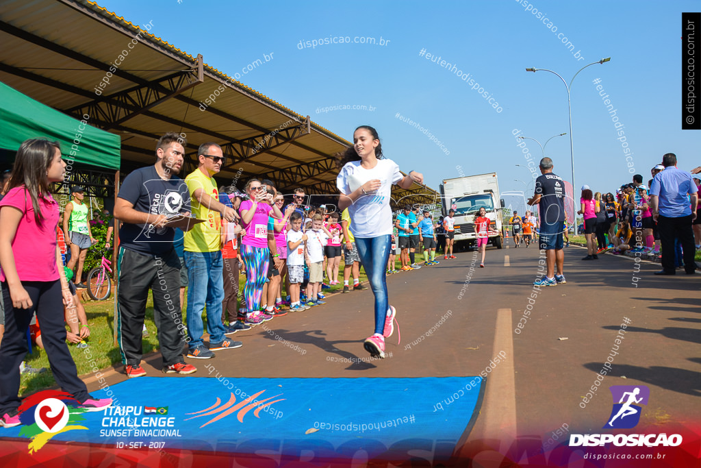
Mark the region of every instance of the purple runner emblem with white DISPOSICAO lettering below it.
<instances>
[{"instance_id":1,"label":"purple runner emblem with white DISPOSICAO lettering below it","mask_svg":"<svg viewBox=\"0 0 701 468\"><path fill-rule=\"evenodd\" d=\"M613 408L602 429L636 427L643 409L640 405L648 404L650 389L645 385L613 385L608 389L613 397ZM571 434L569 446L595 447L613 443L617 447L676 447L681 440L679 434Z\"/></svg>"}]
</instances>

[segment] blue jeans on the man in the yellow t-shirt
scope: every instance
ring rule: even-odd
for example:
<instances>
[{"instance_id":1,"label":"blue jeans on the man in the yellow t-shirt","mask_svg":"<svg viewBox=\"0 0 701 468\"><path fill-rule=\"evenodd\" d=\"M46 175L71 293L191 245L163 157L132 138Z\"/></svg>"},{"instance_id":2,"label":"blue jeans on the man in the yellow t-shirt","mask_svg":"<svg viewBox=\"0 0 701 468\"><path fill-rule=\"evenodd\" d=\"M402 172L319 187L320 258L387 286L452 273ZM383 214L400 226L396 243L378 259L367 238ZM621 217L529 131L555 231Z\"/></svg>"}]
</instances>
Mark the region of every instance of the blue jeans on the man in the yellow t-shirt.
<instances>
[{"instance_id":1,"label":"blue jeans on the man in the yellow t-shirt","mask_svg":"<svg viewBox=\"0 0 701 468\"><path fill-rule=\"evenodd\" d=\"M202 312L207 306L207 332L210 343L224 341L222 300L224 300L224 261L222 252L185 251L185 265L189 284L187 288L187 333L189 346L203 346Z\"/></svg>"}]
</instances>

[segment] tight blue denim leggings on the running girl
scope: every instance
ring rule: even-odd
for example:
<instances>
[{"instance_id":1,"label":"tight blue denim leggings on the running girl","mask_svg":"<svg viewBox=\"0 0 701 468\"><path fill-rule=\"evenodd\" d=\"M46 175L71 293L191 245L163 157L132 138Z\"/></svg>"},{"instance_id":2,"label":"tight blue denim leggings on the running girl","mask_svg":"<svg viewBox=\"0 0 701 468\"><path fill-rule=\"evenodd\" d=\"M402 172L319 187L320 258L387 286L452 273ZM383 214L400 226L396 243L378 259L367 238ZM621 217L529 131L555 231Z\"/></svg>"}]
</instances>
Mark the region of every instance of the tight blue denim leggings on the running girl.
<instances>
[{"instance_id":1,"label":"tight blue denim leggings on the running girl","mask_svg":"<svg viewBox=\"0 0 701 468\"><path fill-rule=\"evenodd\" d=\"M385 318L389 309L387 297L387 274L385 269L390 258L390 246L392 236L386 234L379 237L365 239L355 238L355 246L358 247L360 262L365 268L370 288L375 295L375 333L383 333L385 330Z\"/></svg>"}]
</instances>

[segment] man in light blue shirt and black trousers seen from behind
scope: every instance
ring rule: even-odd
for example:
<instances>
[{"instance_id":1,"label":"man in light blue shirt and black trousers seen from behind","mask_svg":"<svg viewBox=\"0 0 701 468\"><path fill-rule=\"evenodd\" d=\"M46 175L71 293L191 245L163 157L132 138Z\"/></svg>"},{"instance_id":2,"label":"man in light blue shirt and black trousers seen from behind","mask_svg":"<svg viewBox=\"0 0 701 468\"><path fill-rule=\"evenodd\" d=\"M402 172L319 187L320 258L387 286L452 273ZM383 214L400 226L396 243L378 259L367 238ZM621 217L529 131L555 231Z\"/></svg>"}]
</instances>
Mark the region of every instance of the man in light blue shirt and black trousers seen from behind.
<instances>
[{"instance_id":1,"label":"man in light blue shirt and black trousers seen from behind","mask_svg":"<svg viewBox=\"0 0 701 468\"><path fill-rule=\"evenodd\" d=\"M674 239L679 239L684 255L686 274L694 274L694 234L691 223L696 219L698 203L696 184L691 173L676 168L676 155L662 156L665 170L655 175L650 187L650 209L658 222L662 243L662 269L655 274L675 274Z\"/></svg>"}]
</instances>

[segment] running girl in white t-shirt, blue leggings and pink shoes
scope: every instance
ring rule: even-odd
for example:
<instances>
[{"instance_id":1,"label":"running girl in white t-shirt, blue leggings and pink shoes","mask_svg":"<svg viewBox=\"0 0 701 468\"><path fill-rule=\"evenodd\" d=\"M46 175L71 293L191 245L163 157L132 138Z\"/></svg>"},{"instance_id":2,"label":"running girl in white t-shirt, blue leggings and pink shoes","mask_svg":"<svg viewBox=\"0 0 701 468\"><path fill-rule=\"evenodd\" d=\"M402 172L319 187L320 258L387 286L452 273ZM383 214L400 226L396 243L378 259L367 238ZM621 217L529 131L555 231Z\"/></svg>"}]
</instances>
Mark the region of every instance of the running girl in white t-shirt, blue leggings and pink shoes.
<instances>
[{"instance_id":1,"label":"running girl in white t-shirt, blue leggings and pink shoes","mask_svg":"<svg viewBox=\"0 0 701 468\"><path fill-rule=\"evenodd\" d=\"M353 147L341 154L339 167L339 210L348 208L351 215L355 245L375 295L375 333L365 340L365 349L383 358L385 337L394 332L397 313L389 305L385 274L392 237L392 185L408 189L414 182L423 183L423 175L416 171L402 175L394 161L382 157L377 131L366 125L355 129Z\"/></svg>"}]
</instances>

